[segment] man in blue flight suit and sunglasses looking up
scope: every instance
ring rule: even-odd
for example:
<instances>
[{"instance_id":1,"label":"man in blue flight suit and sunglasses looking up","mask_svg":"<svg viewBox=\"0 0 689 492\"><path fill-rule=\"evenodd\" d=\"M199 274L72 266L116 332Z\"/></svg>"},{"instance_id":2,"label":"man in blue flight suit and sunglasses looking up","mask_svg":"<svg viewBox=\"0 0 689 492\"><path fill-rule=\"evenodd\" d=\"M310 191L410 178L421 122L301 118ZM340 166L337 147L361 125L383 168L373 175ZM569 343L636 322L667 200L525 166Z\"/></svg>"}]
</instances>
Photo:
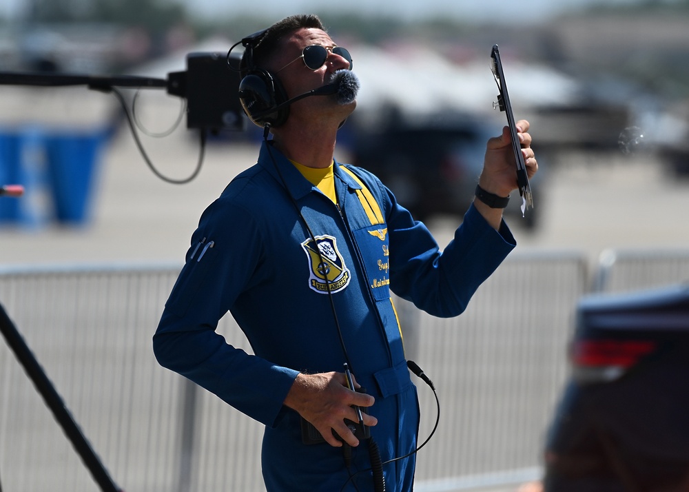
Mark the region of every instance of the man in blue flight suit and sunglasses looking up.
<instances>
[{"instance_id":1,"label":"man in blue flight suit and sunglasses looking up","mask_svg":"<svg viewBox=\"0 0 689 492\"><path fill-rule=\"evenodd\" d=\"M267 490L374 490L371 460L412 453L419 424L391 291L457 316L515 247L502 221L517 187L510 133L487 143L480 198L440 252L376 176L334 161L358 81L318 17L288 17L243 43L240 99L272 139L201 216L154 351L265 424ZM342 96L342 80L353 96ZM304 96L319 88L334 89ZM517 130L533 176L528 122ZM216 333L227 311L253 354ZM345 362L366 393L349 387ZM360 418L371 438L351 425ZM320 443L305 444L309 425ZM384 465L387 490L413 489L414 469L413 453Z\"/></svg>"}]
</instances>

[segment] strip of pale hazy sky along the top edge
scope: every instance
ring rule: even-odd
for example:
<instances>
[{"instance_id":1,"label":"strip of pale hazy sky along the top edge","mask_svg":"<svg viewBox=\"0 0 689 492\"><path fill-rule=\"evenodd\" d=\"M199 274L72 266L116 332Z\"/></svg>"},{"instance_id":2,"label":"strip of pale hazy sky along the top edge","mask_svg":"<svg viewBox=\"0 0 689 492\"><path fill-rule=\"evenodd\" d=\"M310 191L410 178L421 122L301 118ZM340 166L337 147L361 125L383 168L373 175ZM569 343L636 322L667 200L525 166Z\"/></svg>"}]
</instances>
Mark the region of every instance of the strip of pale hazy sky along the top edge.
<instances>
[{"instance_id":1,"label":"strip of pale hazy sky along the top edge","mask_svg":"<svg viewBox=\"0 0 689 492\"><path fill-rule=\"evenodd\" d=\"M639 0L161 0L182 3L203 17L231 15L232 12L261 12L275 18L294 13L360 12L384 14L405 20L422 17L496 19L524 24L542 21L566 10L595 4L629 4ZM0 0L0 15L13 17L21 12L26 0Z\"/></svg>"}]
</instances>

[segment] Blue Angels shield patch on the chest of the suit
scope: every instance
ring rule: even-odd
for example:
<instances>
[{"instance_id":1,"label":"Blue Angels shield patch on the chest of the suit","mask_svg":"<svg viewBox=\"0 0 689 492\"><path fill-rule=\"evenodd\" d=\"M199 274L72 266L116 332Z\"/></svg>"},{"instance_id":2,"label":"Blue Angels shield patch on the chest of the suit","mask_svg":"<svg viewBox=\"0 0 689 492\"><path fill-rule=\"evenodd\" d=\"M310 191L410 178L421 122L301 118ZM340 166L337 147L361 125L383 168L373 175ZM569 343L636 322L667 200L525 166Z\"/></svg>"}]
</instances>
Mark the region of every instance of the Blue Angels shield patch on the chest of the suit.
<instances>
[{"instance_id":1,"label":"Blue Angels shield patch on the chest of the suit","mask_svg":"<svg viewBox=\"0 0 689 492\"><path fill-rule=\"evenodd\" d=\"M316 236L302 243L309 258L309 287L319 294L339 292L349 285L351 273L333 236Z\"/></svg>"}]
</instances>

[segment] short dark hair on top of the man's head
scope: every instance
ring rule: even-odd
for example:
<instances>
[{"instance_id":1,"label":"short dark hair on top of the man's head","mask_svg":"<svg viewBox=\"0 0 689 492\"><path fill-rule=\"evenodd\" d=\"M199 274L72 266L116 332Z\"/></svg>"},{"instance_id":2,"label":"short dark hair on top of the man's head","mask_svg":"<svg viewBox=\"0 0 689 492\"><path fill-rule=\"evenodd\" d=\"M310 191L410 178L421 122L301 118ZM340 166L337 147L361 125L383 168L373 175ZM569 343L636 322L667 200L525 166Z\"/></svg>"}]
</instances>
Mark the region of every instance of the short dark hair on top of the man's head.
<instances>
[{"instance_id":1,"label":"short dark hair on top of the man's head","mask_svg":"<svg viewBox=\"0 0 689 492\"><path fill-rule=\"evenodd\" d=\"M263 34L256 45L253 48L247 47L242 56L240 62L240 70L242 71L242 76L245 76L248 70L254 70L255 68L264 68L267 63L269 63L271 57L277 52L280 47L280 41L282 38L289 36L300 29L320 29L325 31L325 25L317 15L314 14L298 14L285 17L281 21L278 21L271 25L265 33ZM253 66L247 66L249 62L247 61L247 52L252 51L252 63Z\"/></svg>"}]
</instances>

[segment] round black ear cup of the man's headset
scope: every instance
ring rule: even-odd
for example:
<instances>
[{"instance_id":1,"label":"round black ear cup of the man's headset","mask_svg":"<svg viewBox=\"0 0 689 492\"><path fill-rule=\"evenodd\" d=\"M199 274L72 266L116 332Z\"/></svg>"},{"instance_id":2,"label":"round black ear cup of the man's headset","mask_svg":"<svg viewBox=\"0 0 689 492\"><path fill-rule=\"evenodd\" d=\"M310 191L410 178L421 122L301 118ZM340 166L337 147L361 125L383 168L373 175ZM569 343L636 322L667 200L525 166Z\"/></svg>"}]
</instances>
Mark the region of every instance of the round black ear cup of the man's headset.
<instances>
[{"instance_id":1,"label":"round black ear cup of the man's headset","mask_svg":"<svg viewBox=\"0 0 689 492\"><path fill-rule=\"evenodd\" d=\"M287 101L282 83L266 70L253 70L239 83L239 101L256 125L278 127L287 121L289 106L276 109Z\"/></svg>"}]
</instances>

